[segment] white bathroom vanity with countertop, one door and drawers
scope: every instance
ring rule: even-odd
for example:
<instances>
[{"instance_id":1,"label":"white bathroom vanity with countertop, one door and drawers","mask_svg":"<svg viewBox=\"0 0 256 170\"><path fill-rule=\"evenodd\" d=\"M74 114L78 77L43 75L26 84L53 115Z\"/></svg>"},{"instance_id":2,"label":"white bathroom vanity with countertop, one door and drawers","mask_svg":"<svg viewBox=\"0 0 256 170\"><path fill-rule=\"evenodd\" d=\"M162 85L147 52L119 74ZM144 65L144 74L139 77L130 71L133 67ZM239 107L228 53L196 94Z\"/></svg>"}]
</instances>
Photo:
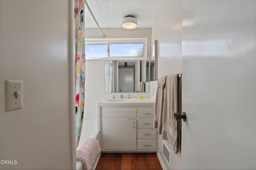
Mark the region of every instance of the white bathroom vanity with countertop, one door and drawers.
<instances>
[{"instance_id":1,"label":"white bathroom vanity with countertop, one door and drawers","mask_svg":"<svg viewBox=\"0 0 256 170\"><path fill-rule=\"evenodd\" d=\"M153 121L154 101L150 98L98 103L102 151L157 151Z\"/></svg>"}]
</instances>

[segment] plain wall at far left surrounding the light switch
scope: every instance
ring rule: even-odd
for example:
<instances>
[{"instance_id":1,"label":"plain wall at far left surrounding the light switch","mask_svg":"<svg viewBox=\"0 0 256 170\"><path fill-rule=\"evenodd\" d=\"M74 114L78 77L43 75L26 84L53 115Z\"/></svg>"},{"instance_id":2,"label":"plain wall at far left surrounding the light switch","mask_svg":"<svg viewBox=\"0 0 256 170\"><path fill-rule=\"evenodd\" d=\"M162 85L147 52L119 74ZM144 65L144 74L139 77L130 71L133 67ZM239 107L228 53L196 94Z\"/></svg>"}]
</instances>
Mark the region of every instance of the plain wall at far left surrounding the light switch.
<instances>
[{"instance_id":1,"label":"plain wall at far left surrounding the light switch","mask_svg":"<svg viewBox=\"0 0 256 170\"><path fill-rule=\"evenodd\" d=\"M68 0L0 0L1 170L70 170ZM24 108L5 111L5 80Z\"/></svg>"}]
</instances>

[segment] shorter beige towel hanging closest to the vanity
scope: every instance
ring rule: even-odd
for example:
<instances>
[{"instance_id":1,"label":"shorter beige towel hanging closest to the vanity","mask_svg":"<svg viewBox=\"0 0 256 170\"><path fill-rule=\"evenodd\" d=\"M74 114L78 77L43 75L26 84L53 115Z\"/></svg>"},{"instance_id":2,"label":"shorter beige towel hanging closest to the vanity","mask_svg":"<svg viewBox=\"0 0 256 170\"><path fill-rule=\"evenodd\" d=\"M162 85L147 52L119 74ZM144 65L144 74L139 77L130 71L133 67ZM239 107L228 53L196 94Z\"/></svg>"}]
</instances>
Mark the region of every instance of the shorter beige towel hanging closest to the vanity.
<instances>
[{"instance_id":1,"label":"shorter beige towel hanging closest to the vanity","mask_svg":"<svg viewBox=\"0 0 256 170\"><path fill-rule=\"evenodd\" d=\"M167 76L162 76L157 80L156 102L154 112L154 128L158 128L158 134L162 134L162 113L164 104L164 86Z\"/></svg>"}]
</instances>

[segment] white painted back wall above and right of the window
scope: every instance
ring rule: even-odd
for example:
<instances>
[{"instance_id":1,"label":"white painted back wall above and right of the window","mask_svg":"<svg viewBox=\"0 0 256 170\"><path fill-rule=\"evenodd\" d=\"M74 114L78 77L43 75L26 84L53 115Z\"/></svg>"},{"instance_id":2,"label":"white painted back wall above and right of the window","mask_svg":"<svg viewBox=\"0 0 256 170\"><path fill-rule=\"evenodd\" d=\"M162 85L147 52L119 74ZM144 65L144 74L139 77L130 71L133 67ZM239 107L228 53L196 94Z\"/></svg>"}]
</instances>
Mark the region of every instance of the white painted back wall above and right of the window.
<instances>
[{"instance_id":1,"label":"white painted back wall above and right of the window","mask_svg":"<svg viewBox=\"0 0 256 170\"><path fill-rule=\"evenodd\" d=\"M105 38L147 38L147 59L150 58L151 28L136 28L127 30L123 28L102 28ZM103 38L98 28L86 28L85 38Z\"/></svg>"}]
</instances>

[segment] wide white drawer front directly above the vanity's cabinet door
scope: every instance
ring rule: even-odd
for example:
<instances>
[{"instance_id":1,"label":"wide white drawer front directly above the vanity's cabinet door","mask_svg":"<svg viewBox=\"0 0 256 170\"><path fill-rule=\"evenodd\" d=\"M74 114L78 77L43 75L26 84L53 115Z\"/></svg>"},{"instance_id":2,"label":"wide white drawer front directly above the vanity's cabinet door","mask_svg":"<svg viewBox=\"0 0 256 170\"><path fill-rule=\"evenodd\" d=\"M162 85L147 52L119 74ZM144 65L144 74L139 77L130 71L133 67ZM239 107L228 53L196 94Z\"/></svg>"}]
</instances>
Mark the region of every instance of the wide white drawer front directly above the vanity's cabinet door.
<instances>
[{"instance_id":1,"label":"wide white drawer front directly above the vanity's cabinet door","mask_svg":"<svg viewBox=\"0 0 256 170\"><path fill-rule=\"evenodd\" d=\"M137 117L137 110L136 109L134 110L132 109L102 110L102 117Z\"/></svg>"}]
</instances>

